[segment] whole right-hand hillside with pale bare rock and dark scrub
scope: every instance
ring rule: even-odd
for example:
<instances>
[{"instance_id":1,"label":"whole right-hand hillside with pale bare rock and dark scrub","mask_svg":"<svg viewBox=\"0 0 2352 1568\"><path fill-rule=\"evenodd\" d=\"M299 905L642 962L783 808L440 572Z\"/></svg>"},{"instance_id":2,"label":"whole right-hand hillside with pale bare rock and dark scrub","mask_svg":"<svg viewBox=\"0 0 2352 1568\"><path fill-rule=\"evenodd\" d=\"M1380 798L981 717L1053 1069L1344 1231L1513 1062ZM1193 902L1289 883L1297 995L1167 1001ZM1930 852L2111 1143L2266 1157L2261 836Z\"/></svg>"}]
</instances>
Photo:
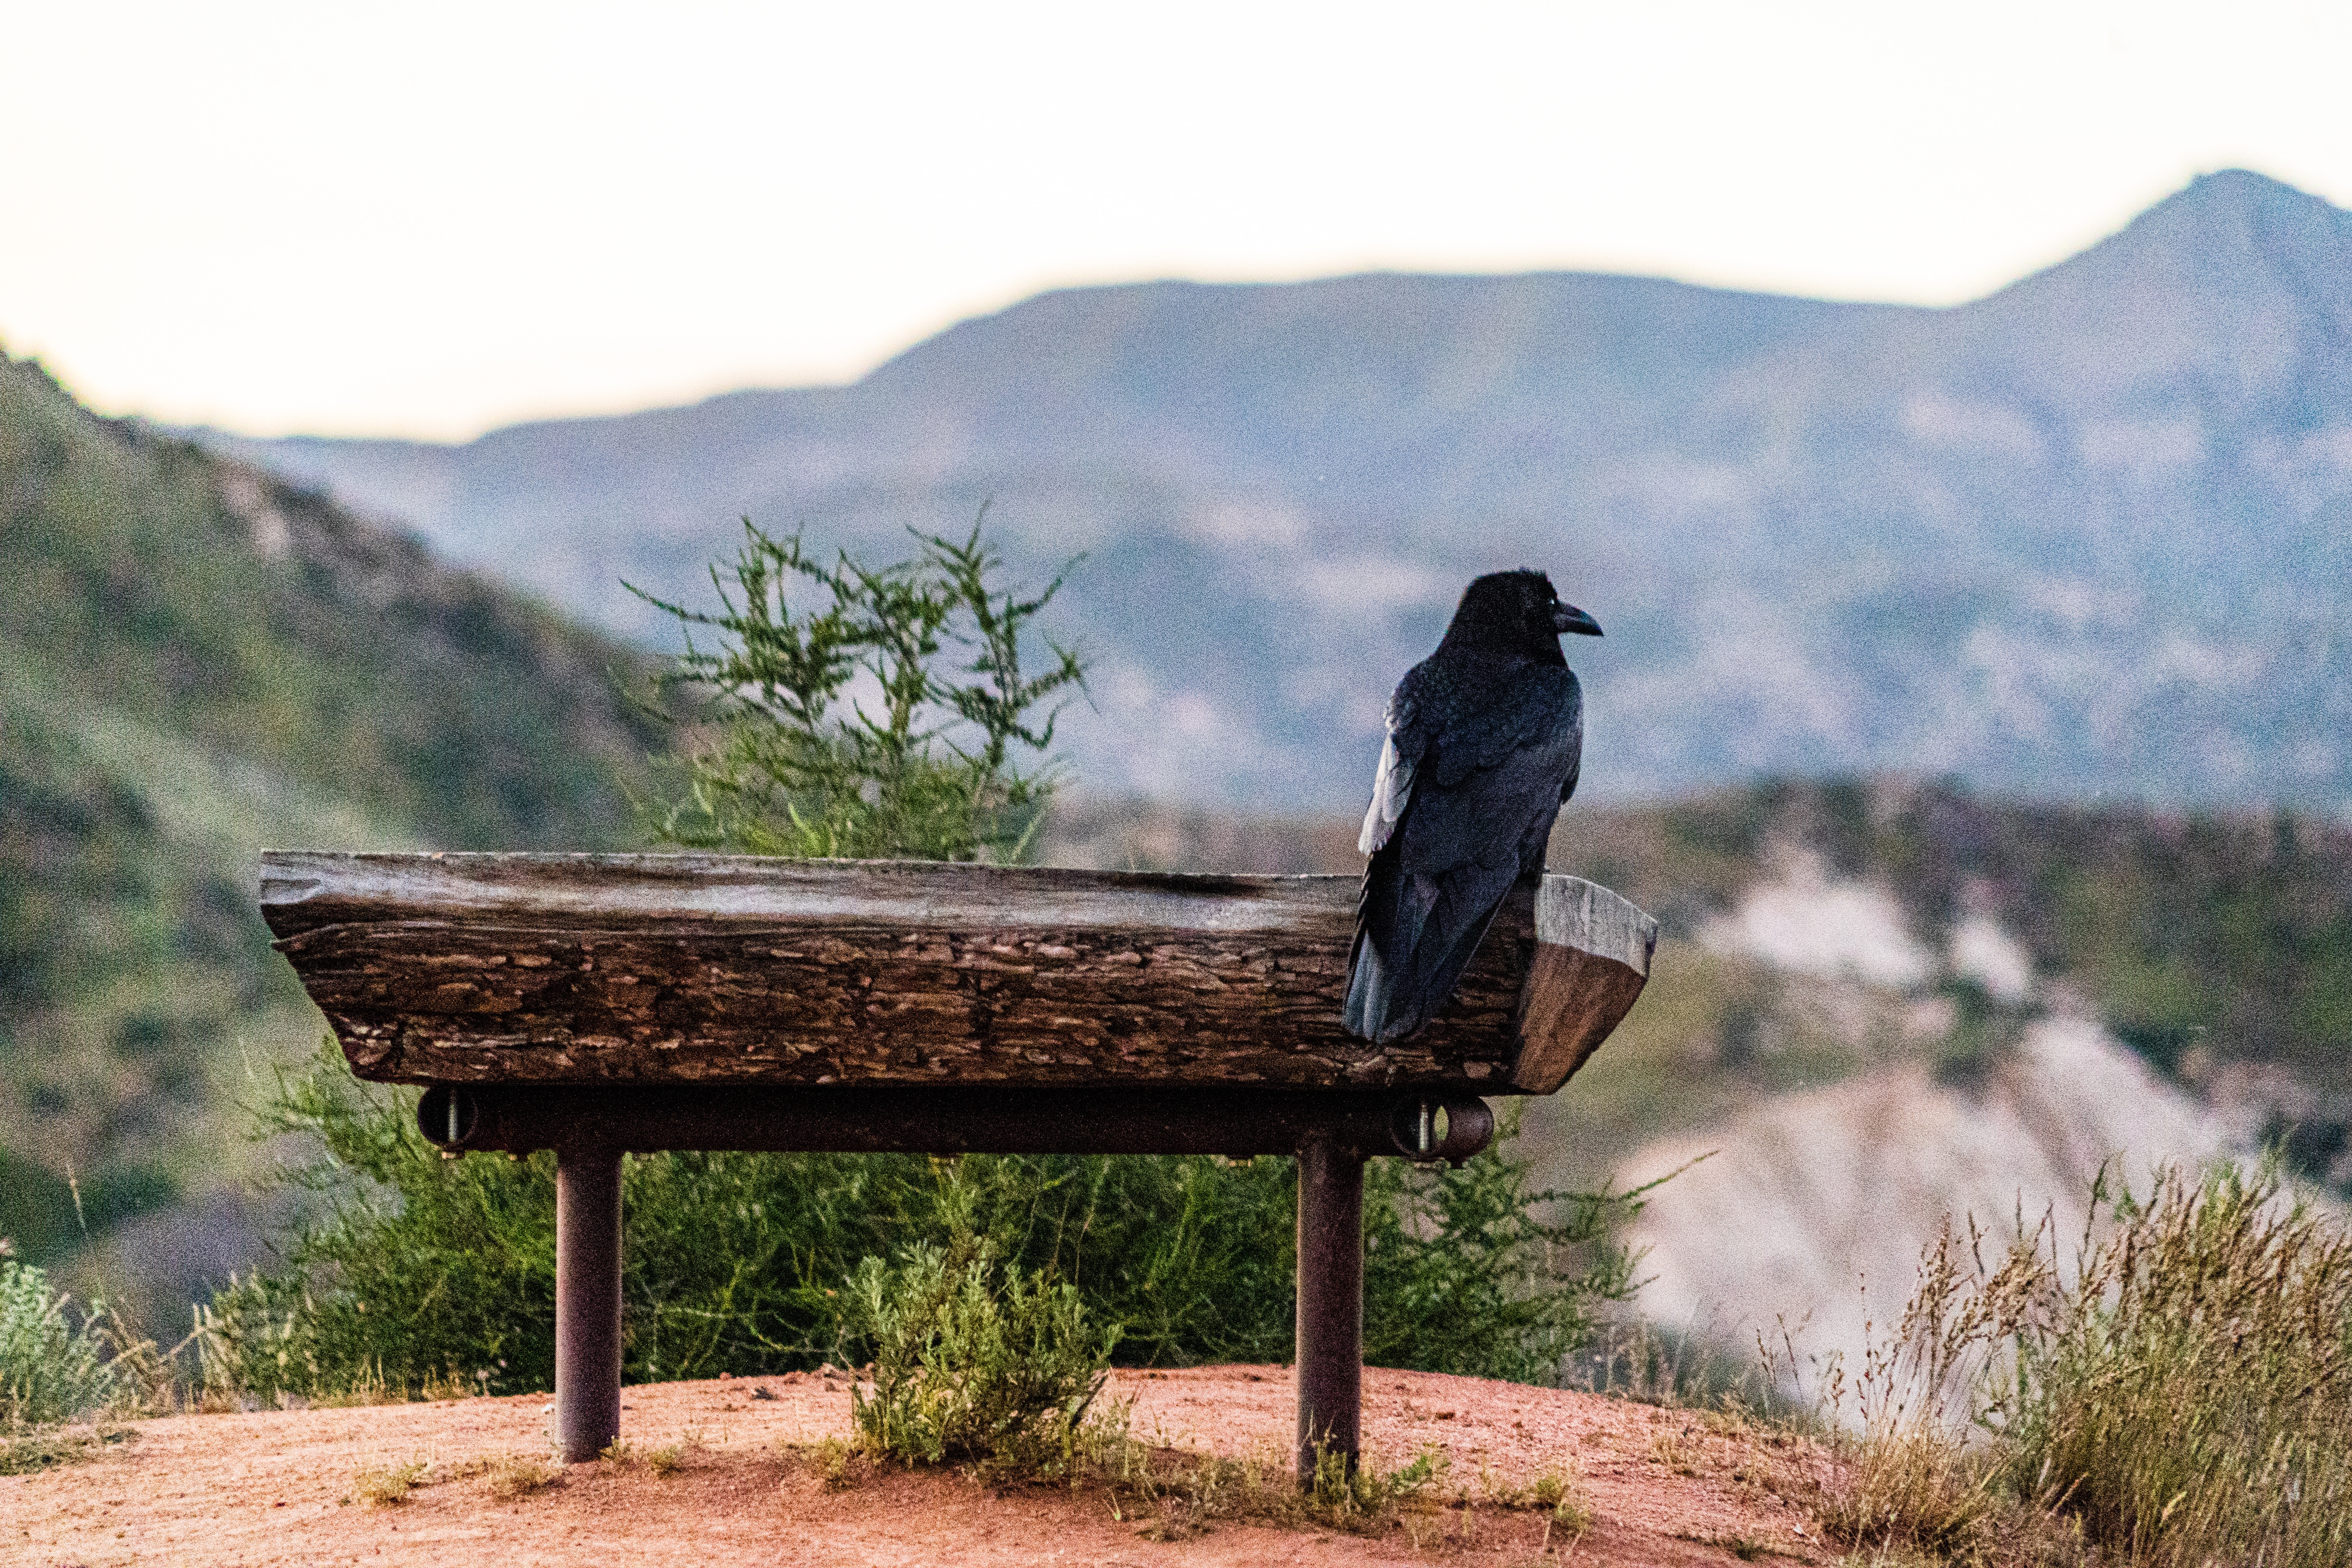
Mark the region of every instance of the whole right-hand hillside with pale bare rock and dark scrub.
<instances>
[{"instance_id":1,"label":"whole right-hand hillside with pale bare rock and dark scrub","mask_svg":"<svg viewBox=\"0 0 2352 1568\"><path fill-rule=\"evenodd\" d=\"M1564 1185L1705 1157L1642 1215L1642 1307L1733 1356L1785 1319L1858 1366L1945 1213L2070 1248L2103 1168L2277 1145L2352 1197L2340 825L1783 783L1571 809L1555 865L1668 940L1529 1135Z\"/></svg>"}]
</instances>

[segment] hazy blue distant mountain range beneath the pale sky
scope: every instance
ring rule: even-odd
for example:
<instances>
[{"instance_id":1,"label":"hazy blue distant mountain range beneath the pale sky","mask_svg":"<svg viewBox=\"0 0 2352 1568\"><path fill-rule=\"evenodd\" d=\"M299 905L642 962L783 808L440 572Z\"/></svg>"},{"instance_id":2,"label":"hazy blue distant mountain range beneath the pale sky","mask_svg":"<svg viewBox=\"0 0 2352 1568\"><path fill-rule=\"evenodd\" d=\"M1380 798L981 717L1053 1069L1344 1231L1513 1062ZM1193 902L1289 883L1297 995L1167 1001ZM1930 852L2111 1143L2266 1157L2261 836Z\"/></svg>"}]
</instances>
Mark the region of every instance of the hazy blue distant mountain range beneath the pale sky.
<instances>
[{"instance_id":1,"label":"hazy blue distant mountain range beneath the pale sky","mask_svg":"<svg viewBox=\"0 0 2352 1568\"><path fill-rule=\"evenodd\" d=\"M863 550L993 498L1089 555L1080 776L1345 811L1461 583L1541 564L1588 788L1905 769L2352 811L2352 216L2211 174L1990 299L1644 277L1073 289L842 388L463 447L209 437L628 635L739 515Z\"/></svg>"}]
</instances>

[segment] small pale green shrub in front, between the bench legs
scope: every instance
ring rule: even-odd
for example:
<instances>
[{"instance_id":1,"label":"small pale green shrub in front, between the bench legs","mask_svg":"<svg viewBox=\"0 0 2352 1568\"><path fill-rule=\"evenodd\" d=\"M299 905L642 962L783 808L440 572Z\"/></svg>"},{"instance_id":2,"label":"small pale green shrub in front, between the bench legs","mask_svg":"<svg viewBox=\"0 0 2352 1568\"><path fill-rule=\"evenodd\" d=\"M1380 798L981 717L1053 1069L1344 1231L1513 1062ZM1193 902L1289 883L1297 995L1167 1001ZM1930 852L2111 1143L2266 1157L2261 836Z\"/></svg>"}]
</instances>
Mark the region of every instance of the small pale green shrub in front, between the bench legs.
<instances>
[{"instance_id":1,"label":"small pale green shrub in front, between the bench legs","mask_svg":"<svg viewBox=\"0 0 2352 1568\"><path fill-rule=\"evenodd\" d=\"M1068 1284L1004 1272L964 1232L868 1258L847 1324L873 1349L873 1396L851 1389L858 1441L901 1465L985 1460L1011 1474L1065 1469L1120 1331L1094 1328Z\"/></svg>"}]
</instances>

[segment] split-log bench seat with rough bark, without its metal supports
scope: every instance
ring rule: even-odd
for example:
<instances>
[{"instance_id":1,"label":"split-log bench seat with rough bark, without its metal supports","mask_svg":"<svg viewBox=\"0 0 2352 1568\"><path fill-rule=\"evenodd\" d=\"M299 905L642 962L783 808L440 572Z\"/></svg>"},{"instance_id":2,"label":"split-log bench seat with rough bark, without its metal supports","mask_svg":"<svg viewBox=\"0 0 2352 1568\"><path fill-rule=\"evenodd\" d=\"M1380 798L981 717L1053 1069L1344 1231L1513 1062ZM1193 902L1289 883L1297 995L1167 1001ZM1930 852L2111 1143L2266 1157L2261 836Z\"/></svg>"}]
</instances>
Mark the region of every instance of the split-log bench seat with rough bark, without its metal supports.
<instances>
[{"instance_id":1,"label":"split-log bench seat with rough bark, without its metal supports","mask_svg":"<svg viewBox=\"0 0 2352 1568\"><path fill-rule=\"evenodd\" d=\"M1338 1027L1352 877L280 851L261 907L388 1081L1548 1093L1656 936L1548 877L1428 1030L1371 1046Z\"/></svg>"}]
</instances>

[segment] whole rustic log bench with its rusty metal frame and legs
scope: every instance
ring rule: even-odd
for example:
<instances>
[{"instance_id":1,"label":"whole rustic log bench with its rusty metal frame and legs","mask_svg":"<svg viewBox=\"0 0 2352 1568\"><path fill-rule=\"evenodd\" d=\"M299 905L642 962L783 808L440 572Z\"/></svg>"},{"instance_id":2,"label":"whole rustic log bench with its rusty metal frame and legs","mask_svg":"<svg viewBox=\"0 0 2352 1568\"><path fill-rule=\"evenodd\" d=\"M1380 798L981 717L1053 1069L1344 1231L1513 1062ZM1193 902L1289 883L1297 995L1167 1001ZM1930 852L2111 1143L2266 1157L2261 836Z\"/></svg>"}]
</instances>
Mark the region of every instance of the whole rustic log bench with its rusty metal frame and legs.
<instances>
[{"instance_id":1,"label":"whole rustic log bench with its rusty metal frame and legs","mask_svg":"<svg viewBox=\"0 0 2352 1568\"><path fill-rule=\"evenodd\" d=\"M1355 877L743 856L273 851L261 912L362 1079L447 1152L555 1150L555 1436L621 1432L621 1154L1298 1157L1298 1455L1357 1455L1364 1159L1468 1159L1649 978L1548 875L1454 1001L1338 1027Z\"/></svg>"}]
</instances>

